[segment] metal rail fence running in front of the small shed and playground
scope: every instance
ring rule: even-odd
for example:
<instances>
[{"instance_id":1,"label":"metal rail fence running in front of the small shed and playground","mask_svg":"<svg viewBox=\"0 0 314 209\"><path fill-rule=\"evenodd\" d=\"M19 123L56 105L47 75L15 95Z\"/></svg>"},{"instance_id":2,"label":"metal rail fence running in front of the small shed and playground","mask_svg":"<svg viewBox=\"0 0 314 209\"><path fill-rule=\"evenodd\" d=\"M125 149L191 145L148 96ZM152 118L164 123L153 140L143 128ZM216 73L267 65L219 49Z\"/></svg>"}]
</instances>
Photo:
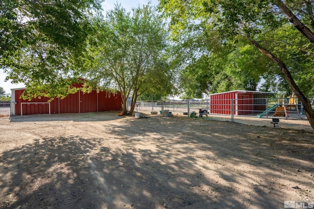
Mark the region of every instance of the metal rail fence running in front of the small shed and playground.
<instances>
[{"instance_id":1,"label":"metal rail fence running in front of the small shed and playground","mask_svg":"<svg viewBox=\"0 0 314 209\"><path fill-rule=\"evenodd\" d=\"M309 99L314 108L314 97L309 97ZM296 97L137 101L135 111L159 115L170 112L177 116L227 120L263 126L272 126L270 123L272 118L279 118L281 128L313 131L305 116L303 105Z\"/></svg>"}]
</instances>

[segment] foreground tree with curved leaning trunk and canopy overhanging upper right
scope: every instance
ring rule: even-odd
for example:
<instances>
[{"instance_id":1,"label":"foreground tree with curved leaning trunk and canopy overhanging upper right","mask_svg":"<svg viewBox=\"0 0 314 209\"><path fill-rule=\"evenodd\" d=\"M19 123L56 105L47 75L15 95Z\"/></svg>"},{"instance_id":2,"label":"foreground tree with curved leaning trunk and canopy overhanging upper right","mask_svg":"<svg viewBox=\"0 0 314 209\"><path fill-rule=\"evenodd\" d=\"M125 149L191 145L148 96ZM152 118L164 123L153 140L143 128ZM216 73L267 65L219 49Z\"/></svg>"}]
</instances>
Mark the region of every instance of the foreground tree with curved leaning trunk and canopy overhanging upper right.
<instances>
[{"instance_id":1,"label":"foreground tree with curved leaning trunk and canopy overhanging upper right","mask_svg":"<svg viewBox=\"0 0 314 209\"><path fill-rule=\"evenodd\" d=\"M288 85L302 102L305 114L314 129L314 112L310 100L303 94L289 71L286 63L276 55L277 50L271 51L264 42L262 34L277 30L287 24L289 20L293 26L300 31L298 37L306 37L310 43L314 44L312 30L306 25L313 26L313 3L312 1L296 0L191 0L188 3L184 0L161 0L160 8L171 18L172 29L179 33L182 28L198 24L204 33L215 31L219 34L217 37L221 43L235 41L245 37L252 46L255 46L265 56L281 70ZM296 14L294 15L293 12ZM287 20L288 17L288 20ZM200 23L197 23L196 20ZM268 37L267 37L268 38ZM289 41L289 40L288 40ZM280 43L271 43L276 45L277 49L284 51L285 45ZM305 45L294 45L301 50ZM313 45L307 46L309 51L313 51ZM289 51L288 51L289 52ZM289 55L291 55L289 53ZM304 56L304 54L303 54ZM313 60L313 53L307 55ZM289 56L291 59L291 56Z\"/></svg>"}]
</instances>

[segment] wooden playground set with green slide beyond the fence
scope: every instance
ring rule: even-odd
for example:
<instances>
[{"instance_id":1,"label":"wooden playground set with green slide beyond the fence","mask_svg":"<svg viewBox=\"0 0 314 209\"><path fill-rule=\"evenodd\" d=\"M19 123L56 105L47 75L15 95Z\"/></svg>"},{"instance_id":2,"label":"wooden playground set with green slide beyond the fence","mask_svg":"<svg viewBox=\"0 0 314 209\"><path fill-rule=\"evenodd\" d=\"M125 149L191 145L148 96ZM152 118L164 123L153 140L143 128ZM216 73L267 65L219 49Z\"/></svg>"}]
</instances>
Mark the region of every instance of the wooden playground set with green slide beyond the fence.
<instances>
[{"instance_id":1,"label":"wooden playground set with green slide beyond the fence","mask_svg":"<svg viewBox=\"0 0 314 209\"><path fill-rule=\"evenodd\" d=\"M303 119L304 117L301 117L301 115L304 115L303 107L301 104L297 104L297 98L295 97L294 93L288 96L287 99L288 104L285 103L285 95L283 95L283 98L280 98L279 96L278 103L267 108L264 112L258 114L257 117L267 117L270 113L274 113L272 115L273 117L284 117L285 119L288 119L288 117L297 116L298 118Z\"/></svg>"}]
</instances>

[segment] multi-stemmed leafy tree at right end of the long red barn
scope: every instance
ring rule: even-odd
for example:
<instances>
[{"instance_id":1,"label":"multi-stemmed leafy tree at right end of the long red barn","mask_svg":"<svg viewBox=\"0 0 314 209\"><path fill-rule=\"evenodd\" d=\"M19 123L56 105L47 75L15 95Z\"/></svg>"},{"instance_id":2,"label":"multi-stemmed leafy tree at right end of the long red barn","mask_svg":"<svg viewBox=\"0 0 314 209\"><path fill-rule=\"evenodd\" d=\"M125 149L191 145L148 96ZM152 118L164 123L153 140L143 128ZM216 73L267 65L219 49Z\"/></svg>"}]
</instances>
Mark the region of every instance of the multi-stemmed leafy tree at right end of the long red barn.
<instances>
[{"instance_id":1,"label":"multi-stemmed leafy tree at right end of the long red barn","mask_svg":"<svg viewBox=\"0 0 314 209\"><path fill-rule=\"evenodd\" d=\"M132 9L127 13L121 5L108 11L99 23L97 38L92 37L90 54L94 59L87 67L89 88L100 86L118 89L122 94L122 110L127 114L128 97L131 109L143 93L173 92L172 71L167 57L167 33L161 16L152 6Z\"/></svg>"}]
</instances>

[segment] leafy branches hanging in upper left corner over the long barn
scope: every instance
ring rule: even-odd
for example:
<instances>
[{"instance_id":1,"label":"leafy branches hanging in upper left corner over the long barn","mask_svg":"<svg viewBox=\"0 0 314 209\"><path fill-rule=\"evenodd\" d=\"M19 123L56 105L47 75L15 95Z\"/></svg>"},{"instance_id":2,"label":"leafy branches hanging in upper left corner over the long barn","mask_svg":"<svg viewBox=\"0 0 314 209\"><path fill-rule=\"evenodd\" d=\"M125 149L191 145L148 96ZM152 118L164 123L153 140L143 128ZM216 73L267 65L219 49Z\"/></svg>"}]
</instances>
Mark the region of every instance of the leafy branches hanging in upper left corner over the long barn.
<instances>
[{"instance_id":1,"label":"leafy branches hanging in upper left corner over the long barn","mask_svg":"<svg viewBox=\"0 0 314 209\"><path fill-rule=\"evenodd\" d=\"M1 0L0 68L26 97L67 94L102 0Z\"/></svg>"}]
</instances>

